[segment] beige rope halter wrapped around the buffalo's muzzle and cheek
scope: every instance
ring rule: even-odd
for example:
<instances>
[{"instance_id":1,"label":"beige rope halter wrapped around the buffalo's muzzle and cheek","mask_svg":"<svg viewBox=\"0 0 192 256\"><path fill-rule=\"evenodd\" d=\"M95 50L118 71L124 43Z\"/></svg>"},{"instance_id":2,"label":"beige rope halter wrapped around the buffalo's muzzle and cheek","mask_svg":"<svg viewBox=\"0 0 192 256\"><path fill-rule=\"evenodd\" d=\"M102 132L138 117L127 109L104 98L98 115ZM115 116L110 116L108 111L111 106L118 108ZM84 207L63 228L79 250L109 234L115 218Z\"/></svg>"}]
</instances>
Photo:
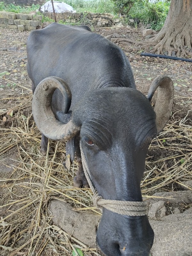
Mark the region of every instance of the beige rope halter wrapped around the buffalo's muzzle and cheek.
<instances>
[{"instance_id":1,"label":"beige rope halter wrapped around the buffalo's muzzle and cheek","mask_svg":"<svg viewBox=\"0 0 192 256\"><path fill-rule=\"evenodd\" d=\"M146 202L134 202L134 201L120 201L120 200L108 200L100 196L93 186L89 168L84 156L83 148L80 141L81 159L85 177L89 186L93 192L93 204L95 207L102 211L102 207L108 209L111 212L116 212L121 215L127 216L143 216L147 214L147 203Z\"/></svg>"}]
</instances>

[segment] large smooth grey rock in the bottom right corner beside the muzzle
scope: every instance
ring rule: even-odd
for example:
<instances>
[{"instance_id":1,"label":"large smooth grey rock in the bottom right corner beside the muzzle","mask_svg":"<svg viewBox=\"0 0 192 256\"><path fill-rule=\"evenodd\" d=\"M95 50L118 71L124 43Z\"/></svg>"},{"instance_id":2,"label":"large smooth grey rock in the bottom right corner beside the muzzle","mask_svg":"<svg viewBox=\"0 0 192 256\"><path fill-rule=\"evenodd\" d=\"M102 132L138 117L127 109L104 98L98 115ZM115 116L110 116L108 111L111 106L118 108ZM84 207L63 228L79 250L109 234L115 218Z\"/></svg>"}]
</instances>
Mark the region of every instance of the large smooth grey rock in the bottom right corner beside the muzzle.
<instances>
[{"instance_id":1,"label":"large smooth grey rock in the bottom right corner beside the muzzle","mask_svg":"<svg viewBox=\"0 0 192 256\"><path fill-rule=\"evenodd\" d=\"M192 214L171 214L149 222L155 233L153 256L192 255Z\"/></svg>"}]
</instances>

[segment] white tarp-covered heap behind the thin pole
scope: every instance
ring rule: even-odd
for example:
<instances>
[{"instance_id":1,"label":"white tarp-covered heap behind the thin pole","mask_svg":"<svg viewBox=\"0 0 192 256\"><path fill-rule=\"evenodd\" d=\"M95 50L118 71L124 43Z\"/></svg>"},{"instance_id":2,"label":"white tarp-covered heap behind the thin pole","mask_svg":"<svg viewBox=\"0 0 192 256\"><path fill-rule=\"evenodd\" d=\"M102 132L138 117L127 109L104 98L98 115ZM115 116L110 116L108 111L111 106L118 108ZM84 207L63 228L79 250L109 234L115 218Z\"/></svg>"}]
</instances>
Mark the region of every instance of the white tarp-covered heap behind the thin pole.
<instances>
[{"instance_id":1,"label":"white tarp-covered heap behind the thin pole","mask_svg":"<svg viewBox=\"0 0 192 256\"><path fill-rule=\"evenodd\" d=\"M61 3L58 1L53 1L53 5L54 5L55 12L76 12L73 10L72 6L65 4L63 2ZM45 3L43 6L41 6L41 11L42 12L53 12L51 1Z\"/></svg>"}]
</instances>

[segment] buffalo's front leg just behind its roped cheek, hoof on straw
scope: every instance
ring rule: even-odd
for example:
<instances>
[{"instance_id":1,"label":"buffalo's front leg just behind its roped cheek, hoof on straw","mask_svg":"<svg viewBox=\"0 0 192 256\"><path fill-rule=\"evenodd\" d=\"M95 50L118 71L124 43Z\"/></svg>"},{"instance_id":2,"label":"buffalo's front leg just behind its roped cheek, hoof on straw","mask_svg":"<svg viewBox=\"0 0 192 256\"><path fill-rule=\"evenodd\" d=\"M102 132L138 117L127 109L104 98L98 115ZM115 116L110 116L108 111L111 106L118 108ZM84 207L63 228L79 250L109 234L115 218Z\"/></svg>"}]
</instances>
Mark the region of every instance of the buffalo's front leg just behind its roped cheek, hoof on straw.
<instances>
[{"instance_id":1,"label":"buffalo's front leg just behind its roped cheek, hoof on straw","mask_svg":"<svg viewBox=\"0 0 192 256\"><path fill-rule=\"evenodd\" d=\"M75 140L75 151L76 151L76 159L78 163L78 170L76 172L76 176L73 179L73 184L74 184L74 187L77 187L77 188L83 188L83 187L89 188L89 184L85 177L83 165L81 161L81 150L80 150L79 142L80 142L80 138L79 136L77 136Z\"/></svg>"}]
</instances>

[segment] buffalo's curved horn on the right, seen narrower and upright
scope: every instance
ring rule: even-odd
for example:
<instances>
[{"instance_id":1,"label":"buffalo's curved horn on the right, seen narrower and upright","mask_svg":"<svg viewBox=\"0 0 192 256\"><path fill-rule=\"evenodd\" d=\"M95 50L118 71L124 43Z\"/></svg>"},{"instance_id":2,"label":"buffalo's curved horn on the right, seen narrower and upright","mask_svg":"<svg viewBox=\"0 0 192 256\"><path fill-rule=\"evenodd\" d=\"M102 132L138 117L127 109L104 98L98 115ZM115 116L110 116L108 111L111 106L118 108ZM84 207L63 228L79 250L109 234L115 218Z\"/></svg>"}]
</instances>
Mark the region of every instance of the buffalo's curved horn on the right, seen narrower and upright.
<instances>
[{"instance_id":1,"label":"buffalo's curved horn on the right, seen narrower and upright","mask_svg":"<svg viewBox=\"0 0 192 256\"><path fill-rule=\"evenodd\" d=\"M157 90L157 100L154 111L156 113L157 133L165 127L173 107L174 86L169 76L158 76L155 78L148 91L148 100L151 101L154 92Z\"/></svg>"}]
</instances>

